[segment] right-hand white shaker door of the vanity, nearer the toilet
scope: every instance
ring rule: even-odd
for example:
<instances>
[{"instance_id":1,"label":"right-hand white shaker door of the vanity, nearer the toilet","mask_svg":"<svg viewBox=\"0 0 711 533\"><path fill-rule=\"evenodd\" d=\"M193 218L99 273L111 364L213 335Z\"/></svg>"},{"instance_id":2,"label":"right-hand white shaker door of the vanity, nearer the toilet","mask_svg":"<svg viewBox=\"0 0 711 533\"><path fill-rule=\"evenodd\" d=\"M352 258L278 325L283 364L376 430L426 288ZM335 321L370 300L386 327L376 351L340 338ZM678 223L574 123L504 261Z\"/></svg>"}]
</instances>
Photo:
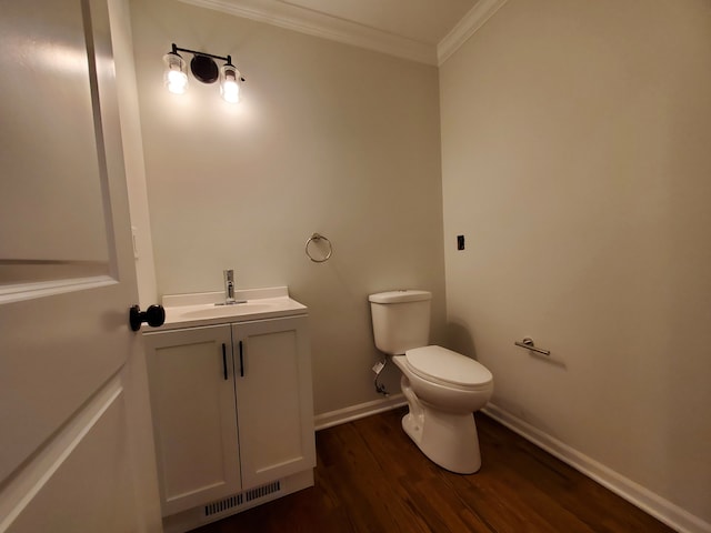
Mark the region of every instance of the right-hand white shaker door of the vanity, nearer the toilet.
<instances>
[{"instance_id":1,"label":"right-hand white shaker door of the vanity, nearer the toilet","mask_svg":"<svg viewBox=\"0 0 711 533\"><path fill-rule=\"evenodd\" d=\"M242 486L316 466L308 318L232 324Z\"/></svg>"}]
</instances>

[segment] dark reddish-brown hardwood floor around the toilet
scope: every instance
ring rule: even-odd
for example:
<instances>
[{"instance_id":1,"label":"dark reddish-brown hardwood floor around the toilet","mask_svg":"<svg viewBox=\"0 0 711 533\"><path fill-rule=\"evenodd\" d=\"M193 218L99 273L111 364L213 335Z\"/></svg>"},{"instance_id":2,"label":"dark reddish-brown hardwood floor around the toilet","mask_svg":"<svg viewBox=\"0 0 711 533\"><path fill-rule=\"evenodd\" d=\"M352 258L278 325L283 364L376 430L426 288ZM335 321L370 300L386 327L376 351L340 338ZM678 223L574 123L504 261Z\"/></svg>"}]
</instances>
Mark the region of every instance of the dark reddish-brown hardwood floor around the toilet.
<instances>
[{"instance_id":1,"label":"dark reddish-brown hardwood floor around the toilet","mask_svg":"<svg viewBox=\"0 0 711 533\"><path fill-rule=\"evenodd\" d=\"M194 531L673 531L480 413L481 470L460 475L440 469L402 431L405 412L318 432L314 487Z\"/></svg>"}]
</instances>

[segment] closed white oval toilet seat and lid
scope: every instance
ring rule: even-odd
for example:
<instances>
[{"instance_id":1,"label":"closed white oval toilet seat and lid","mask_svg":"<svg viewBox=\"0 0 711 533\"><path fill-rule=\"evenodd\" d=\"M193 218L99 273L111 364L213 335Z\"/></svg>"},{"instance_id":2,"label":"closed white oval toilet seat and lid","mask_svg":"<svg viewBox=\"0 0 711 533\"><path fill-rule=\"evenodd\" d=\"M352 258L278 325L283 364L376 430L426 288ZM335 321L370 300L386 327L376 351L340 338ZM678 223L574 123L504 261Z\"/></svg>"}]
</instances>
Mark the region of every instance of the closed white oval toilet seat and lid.
<instances>
[{"instance_id":1,"label":"closed white oval toilet seat and lid","mask_svg":"<svg viewBox=\"0 0 711 533\"><path fill-rule=\"evenodd\" d=\"M445 386L471 391L487 389L493 380L479 362L442 346L408 350L405 361L413 374Z\"/></svg>"}]
</instances>

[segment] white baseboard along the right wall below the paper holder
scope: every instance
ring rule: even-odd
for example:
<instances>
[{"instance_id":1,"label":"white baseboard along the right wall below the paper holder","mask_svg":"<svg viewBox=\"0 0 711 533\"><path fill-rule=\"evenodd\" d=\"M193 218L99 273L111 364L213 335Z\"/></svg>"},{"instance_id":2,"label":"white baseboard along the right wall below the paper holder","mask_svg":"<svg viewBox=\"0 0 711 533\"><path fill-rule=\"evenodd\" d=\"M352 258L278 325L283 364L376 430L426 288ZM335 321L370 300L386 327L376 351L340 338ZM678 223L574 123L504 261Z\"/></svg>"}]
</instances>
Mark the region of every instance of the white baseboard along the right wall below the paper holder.
<instances>
[{"instance_id":1,"label":"white baseboard along the right wall below the paper holder","mask_svg":"<svg viewBox=\"0 0 711 533\"><path fill-rule=\"evenodd\" d=\"M709 522L694 516L679 505L664 500L632 480L573 450L568 444L533 428L503 409L489 403L482 412L673 530L680 533L711 533L711 524Z\"/></svg>"}]
</instances>

